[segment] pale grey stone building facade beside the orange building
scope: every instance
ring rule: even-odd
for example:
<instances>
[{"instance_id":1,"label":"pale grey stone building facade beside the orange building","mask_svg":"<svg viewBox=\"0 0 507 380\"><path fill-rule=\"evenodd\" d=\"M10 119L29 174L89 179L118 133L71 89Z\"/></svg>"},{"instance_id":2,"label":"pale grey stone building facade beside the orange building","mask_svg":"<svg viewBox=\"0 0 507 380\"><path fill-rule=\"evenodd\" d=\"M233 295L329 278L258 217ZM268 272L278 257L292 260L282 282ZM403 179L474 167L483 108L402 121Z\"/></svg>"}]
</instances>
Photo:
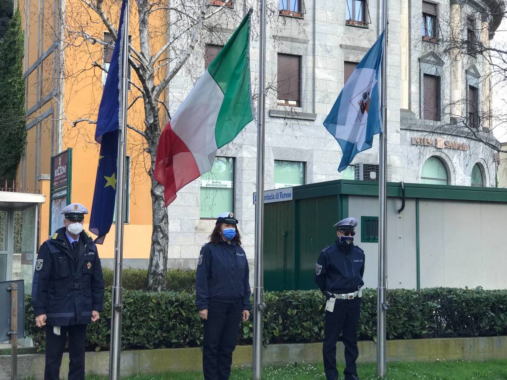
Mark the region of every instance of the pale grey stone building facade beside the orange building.
<instances>
[{"instance_id":1,"label":"pale grey stone building facade beside the orange building","mask_svg":"<svg viewBox=\"0 0 507 380\"><path fill-rule=\"evenodd\" d=\"M375 166L365 165L378 165L378 137L371 149L355 157L350 171L339 173L337 167L341 150L322 122L344 85L346 64L359 62L381 32L380 2L306 0L303 4L303 0L293 0L288 12L279 8L289 7L291 2L268 0L268 3L265 189L279 186L276 166L280 162L302 163L303 183L341 178L372 179L375 175L370 175L370 172L376 171ZM356 13L351 15L350 7L359 5L364 8L353 9ZM234 10L238 13L242 9L246 12L247 7L248 4L241 1L234 2ZM437 15L424 14L428 7L433 7ZM479 56L451 57L448 54L442 57L439 54L441 44L438 43L438 36L441 33L450 35L451 29L461 30L466 37L465 24L470 17L474 17L477 30L494 30L498 20L488 16L490 7L489 3L475 1L438 1L429 5L421 0L390 2L388 181L495 185L495 151L478 139L470 138L470 133L463 133L459 128L467 116L468 103L462 100L466 99L469 86L478 89L479 97L490 96L489 83L480 80L487 68ZM434 22L444 20L440 22L438 32L435 32L436 40L431 38L433 32L427 30L430 21L425 21L425 16L430 19L433 17ZM223 45L239 19L230 21L222 17L209 21L209 36L200 41L189 67L203 67L206 45ZM256 12L252 19L258 20ZM258 82L256 28L258 24L254 23L250 51L252 92L256 91ZM482 32L478 37L488 44L493 34ZM278 96L277 85L280 82L277 75L280 70L277 65L280 54L297 56L300 60L300 97L292 105L281 105ZM168 89L171 111L177 108L196 80L188 74L190 71L182 70ZM438 84L437 93L433 94L439 104L438 117L433 118L437 120L427 120L423 111L429 109L424 103L423 89L427 78ZM485 103L476 102L478 106ZM481 138L497 144L487 125L478 126L477 133ZM232 211L239 219L243 246L253 265L255 207L252 194L256 189L256 128L243 130L232 143L219 150L218 156L233 159L232 180L223 182L223 186L232 188L233 195L232 203L230 200L229 203L223 200L216 202L222 202L220 204L224 207L231 205L230 209L220 212ZM423 170L428 159L433 167L428 166ZM439 165L445 169L445 173L439 172ZM436 172L437 177L433 178L433 174L425 171ZM473 178L473 171L476 178ZM359 175L363 176L359 178ZM202 210L203 202L209 202L203 199L203 195L208 194L208 189L203 188L207 186L206 183L199 179L188 184L168 208L169 267L194 268L200 248L208 240L214 220L203 217L206 214ZM220 190L216 190L215 197L221 197ZM218 213L219 210L213 212Z\"/></svg>"}]
</instances>

